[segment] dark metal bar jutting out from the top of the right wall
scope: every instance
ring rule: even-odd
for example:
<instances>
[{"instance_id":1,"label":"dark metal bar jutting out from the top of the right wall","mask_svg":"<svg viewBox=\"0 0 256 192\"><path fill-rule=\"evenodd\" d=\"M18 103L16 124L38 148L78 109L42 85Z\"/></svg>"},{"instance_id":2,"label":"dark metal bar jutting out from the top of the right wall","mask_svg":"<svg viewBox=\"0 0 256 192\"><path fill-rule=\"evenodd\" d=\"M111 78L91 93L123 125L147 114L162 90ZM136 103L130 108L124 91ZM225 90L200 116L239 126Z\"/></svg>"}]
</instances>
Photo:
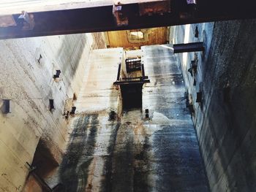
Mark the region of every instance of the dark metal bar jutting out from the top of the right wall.
<instances>
[{"instance_id":1,"label":"dark metal bar jutting out from the top of the right wall","mask_svg":"<svg viewBox=\"0 0 256 192\"><path fill-rule=\"evenodd\" d=\"M191 42L173 45L174 53L204 51L203 42Z\"/></svg>"}]
</instances>

